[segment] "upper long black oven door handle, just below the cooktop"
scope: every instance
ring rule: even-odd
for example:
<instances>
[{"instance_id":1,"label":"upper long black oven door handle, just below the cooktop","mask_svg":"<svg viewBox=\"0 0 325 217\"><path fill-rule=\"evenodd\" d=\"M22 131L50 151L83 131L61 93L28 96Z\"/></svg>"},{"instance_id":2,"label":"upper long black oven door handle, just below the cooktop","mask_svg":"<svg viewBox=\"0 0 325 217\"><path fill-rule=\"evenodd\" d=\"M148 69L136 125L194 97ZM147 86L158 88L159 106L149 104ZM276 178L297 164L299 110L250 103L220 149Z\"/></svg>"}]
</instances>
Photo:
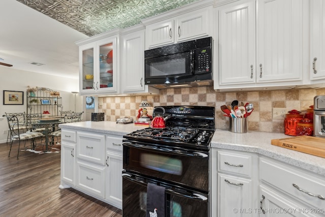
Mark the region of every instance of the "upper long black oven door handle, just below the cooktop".
<instances>
[{"instance_id":1,"label":"upper long black oven door handle, just below the cooktop","mask_svg":"<svg viewBox=\"0 0 325 217\"><path fill-rule=\"evenodd\" d=\"M134 147L134 148L139 148L139 149L144 149L144 150L152 150L152 151L161 151L165 153L171 153L172 154L177 154L180 156L190 156L190 157L198 157L198 158L207 158L209 157L208 154L202 153L202 152L197 152L197 151L185 151L185 150L174 150L172 148L158 148L155 146L150 146L150 145L141 145L141 144L135 144L131 142L123 142L124 146L128 147Z\"/></svg>"}]
</instances>

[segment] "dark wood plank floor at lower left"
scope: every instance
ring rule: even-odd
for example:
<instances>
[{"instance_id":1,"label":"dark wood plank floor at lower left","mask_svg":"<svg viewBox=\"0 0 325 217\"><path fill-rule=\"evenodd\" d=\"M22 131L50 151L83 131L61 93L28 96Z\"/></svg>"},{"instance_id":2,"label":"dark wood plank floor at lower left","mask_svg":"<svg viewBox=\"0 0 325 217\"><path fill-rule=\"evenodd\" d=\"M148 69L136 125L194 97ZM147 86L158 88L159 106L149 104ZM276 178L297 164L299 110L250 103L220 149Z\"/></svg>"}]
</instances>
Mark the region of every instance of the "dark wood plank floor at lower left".
<instances>
[{"instance_id":1,"label":"dark wood plank floor at lower left","mask_svg":"<svg viewBox=\"0 0 325 217\"><path fill-rule=\"evenodd\" d=\"M0 216L122 216L114 206L58 188L60 153L23 151L17 160L17 150L8 158L9 148L0 144Z\"/></svg>"}]
</instances>

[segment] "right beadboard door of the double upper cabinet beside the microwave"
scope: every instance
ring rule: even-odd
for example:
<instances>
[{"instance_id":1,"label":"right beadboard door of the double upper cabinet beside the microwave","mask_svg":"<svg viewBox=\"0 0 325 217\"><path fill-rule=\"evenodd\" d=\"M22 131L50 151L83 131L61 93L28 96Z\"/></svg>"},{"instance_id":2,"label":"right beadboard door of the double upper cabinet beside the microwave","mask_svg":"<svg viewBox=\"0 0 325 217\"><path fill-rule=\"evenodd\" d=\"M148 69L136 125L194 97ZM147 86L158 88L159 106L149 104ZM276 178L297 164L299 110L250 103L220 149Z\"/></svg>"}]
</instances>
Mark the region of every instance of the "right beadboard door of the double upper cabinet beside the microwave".
<instances>
[{"instance_id":1,"label":"right beadboard door of the double upper cabinet beside the microwave","mask_svg":"<svg viewBox=\"0 0 325 217\"><path fill-rule=\"evenodd\" d=\"M257 82L301 81L303 1L258 0Z\"/></svg>"}]
</instances>

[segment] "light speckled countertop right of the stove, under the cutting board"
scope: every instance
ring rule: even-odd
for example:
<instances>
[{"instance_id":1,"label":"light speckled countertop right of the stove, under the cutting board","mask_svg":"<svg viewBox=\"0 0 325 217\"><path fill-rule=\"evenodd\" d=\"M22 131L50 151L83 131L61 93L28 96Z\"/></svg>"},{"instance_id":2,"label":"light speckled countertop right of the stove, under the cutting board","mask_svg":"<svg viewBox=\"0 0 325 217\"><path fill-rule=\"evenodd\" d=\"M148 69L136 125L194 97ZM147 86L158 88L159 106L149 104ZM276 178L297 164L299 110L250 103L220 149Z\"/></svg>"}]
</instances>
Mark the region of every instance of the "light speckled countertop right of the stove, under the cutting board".
<instances>
[{"instance_id":1,"label":"light speckled countertop right of the stove, under the cutting board","mask_svg":"<svg viewBox=\"0 0 325 217\"><path fill-rule=\"evenodd\" d=\"M292 138L282 133L247 132L232 133L216 130L211 147L259 153L320 175L325 175L325 158L279 147L271 139ZM325 145L325 144L324 144Z\"/></svg>"}]
</instances>

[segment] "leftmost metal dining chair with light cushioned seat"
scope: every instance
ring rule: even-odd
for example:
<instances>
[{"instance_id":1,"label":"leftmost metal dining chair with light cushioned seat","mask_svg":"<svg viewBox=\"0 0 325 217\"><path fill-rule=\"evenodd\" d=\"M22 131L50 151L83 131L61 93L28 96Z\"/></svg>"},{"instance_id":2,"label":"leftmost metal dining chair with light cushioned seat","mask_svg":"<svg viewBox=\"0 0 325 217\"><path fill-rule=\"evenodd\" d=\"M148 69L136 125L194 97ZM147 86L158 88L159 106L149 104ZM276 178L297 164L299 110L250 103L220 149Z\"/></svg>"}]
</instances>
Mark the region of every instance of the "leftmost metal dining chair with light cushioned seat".
<instances>
[{"instance_id":1,"label":"leftmost metal dining chair with light cushioned seat","mask_svg":"<svg viewBox=\"0 0 325 217\"><path fill-rule=\"evenodd\" d=\"M3 116L5 116L5 115L3 115ZM20 142L30 140L31 141L30 148L35 149L35 139L43 137L43 134L40 132L29 131L29 130L24 132L23 129L24 129L25 125L21 125L21 122L19 121L19 116L13 115L13 116L6 116L6 117L7 117L8 123L11 123L11 125L9 125L9 126L11 126L11 127L9 127L10 135L11 135L11 143L10 143L10 150L9 150L8 157L10 157L10 152L12 149L13 142L19 141L18 153L17 153L17 159L18 159L19 150L20 150ZM26 145L26 143L24 144L24 147L25 147L25 145Z\"/></svg>"}]
</instances>

